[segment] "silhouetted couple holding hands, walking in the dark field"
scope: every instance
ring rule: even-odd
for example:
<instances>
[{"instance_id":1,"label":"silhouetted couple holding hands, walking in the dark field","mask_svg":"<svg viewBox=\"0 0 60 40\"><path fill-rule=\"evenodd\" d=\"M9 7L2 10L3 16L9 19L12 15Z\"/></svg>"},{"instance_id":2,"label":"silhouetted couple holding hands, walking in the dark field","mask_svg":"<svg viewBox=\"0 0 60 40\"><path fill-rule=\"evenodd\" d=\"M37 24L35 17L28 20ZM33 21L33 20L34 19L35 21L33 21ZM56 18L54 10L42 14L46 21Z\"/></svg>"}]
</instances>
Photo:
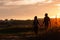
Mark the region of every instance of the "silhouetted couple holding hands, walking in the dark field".
<instances>
[{"instance_id":1,"label":"silhouetted couple holding hands, walking in the dark field","mask_svg":"<svg viewBox=\"0 0 60 40\"><path fill-rule=\"evenodd\" d=\"M45 26L45 29L48 29L48 25L50 23L50 18L48 17L48 14L45 13L44 21L43 24ZM34 17L33 25L34 25L34 32L37 34L38 33L38 19L37 16ZM40 25L40 24L39 24Z\"/></svg>"}]
</instances>

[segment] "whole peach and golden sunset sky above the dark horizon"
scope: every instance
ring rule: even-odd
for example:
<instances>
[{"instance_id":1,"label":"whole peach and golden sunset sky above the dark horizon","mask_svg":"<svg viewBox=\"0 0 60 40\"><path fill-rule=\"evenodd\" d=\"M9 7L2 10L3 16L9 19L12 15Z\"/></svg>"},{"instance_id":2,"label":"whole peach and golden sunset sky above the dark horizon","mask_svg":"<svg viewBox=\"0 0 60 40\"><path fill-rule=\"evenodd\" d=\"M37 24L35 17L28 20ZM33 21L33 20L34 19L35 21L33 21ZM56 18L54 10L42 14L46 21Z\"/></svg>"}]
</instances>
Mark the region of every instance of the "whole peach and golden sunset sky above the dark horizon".
<instances>
[{"instance_id":1,"label":"whole peach and golden sunset sky above the dark horizon","mask_svg":"<svg viewBox=\"0 0 60 40\"><path fill-rule=\"evenodd\" d=\"M60 0L0 0L0 19L60 17Z\"/></svg>"}]
</instances>

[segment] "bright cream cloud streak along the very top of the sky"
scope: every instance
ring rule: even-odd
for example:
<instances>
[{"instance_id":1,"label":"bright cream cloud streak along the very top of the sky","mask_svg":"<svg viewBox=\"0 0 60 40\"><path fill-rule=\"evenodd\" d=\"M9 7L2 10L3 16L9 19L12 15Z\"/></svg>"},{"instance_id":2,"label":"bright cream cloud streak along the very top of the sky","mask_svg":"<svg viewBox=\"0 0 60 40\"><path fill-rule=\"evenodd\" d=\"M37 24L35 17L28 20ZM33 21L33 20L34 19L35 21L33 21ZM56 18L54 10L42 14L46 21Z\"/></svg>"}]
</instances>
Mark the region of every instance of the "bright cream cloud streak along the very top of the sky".
<instances>
[{"instance_id":1,"label":"bright cream cloud streak along the very top of the sky","mask_svg":"<svg viewBox=\"0 0 60 40\"><path fill-rule=\"evenodd\" d=\"M51 3L52 0L8 0L1 1L4 5L29 5L36 3Z\"/></svg>"}]
</instances>

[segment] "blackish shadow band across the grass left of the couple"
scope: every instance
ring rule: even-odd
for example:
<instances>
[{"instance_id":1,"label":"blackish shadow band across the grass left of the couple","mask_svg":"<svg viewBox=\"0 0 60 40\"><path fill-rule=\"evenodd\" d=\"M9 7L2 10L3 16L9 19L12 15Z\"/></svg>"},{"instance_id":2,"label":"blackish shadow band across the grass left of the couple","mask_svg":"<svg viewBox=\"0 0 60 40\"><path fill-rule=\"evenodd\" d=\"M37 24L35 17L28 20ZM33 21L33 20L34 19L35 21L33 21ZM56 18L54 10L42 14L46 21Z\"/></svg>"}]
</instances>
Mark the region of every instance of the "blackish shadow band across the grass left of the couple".
<instances>
[{"instance_id":1,"label":"blackish shadow band across the grass left of the couple","mask_svg":"<svg viewBox=\"0 0 60 40\"><path fill-rule=\"evenodd\" d=\"M0 34L12 34L12 33L28 32L28 31L32 31L32 28L7 28L0 30Z\"/></svg>"}]
</instances>

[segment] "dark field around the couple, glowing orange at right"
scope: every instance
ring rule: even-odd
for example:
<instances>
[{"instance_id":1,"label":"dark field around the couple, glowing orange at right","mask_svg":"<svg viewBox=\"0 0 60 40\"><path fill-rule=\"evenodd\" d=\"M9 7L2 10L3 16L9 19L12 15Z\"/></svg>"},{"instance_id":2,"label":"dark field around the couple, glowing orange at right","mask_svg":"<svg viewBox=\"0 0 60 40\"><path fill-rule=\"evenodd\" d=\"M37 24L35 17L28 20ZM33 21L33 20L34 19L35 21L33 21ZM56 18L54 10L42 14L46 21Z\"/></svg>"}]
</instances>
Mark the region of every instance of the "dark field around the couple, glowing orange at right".
<instances>
[{"instance_id":1,"label":"dark field around the couple, glowing orange at right","mask_svg":"<svg viewBox=\"0 0 60 40\"><path fill-rule=\"evenodd\" d=\"M51 19L48 30L43 19L39 19L39 29L33 32L33 20L0 21L0 40L60 40L60 19Z\"/></svg>"}]
</instances>

